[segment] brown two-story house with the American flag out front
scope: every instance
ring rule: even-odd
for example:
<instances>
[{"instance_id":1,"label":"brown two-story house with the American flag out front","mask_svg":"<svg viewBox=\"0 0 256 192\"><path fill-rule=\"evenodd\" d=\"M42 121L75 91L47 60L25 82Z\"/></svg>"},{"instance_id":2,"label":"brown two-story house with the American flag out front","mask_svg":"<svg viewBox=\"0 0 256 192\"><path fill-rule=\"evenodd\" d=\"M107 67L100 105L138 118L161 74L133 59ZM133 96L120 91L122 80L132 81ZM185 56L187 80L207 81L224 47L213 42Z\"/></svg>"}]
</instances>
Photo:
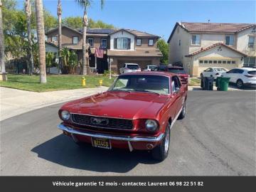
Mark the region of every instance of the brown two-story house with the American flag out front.
<instances>
[{"instance_id":1,"label":"brown two-story house with the American flag out front","mask_svg":"<svg viewBox=\"0 0 256 192\"><path fill-rule=\"evenodd\" d=\"M58 45L58 28L46 33L47 42ZM108 70L107 58L112 58L114 73L124 63L138 63L141 68L146 65L159 65L161 51L156 47L159 36L131 29L88 28L87 43L90 44L90 68L97 68L98 73ZM75 50L78 60L82 60L82 30L62 27L62 46ZM95 48L104 49L104 57L95 59ZM97 63L95 65L95 62Z\"/></svg>"}]
</instances>

